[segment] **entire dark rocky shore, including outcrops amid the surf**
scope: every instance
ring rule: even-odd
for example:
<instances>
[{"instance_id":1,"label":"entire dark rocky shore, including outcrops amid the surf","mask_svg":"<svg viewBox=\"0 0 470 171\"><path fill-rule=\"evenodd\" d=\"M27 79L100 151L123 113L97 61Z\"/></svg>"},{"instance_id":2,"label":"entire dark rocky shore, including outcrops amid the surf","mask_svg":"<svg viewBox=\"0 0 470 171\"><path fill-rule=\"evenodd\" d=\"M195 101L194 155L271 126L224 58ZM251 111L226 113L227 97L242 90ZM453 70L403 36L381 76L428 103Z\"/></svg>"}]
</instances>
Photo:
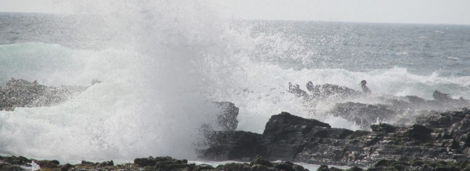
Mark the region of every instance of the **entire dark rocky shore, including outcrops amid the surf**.
<instances>
[{"instance_id":1,"label":"entire dark rocky shore, including outcrops amid the surf","mask_svg":"<svg viewBox=\"0 0 470 171\"><path fill-rule=\"evenodd\" d=\"M86 88L53 87L10 79L6 86L0 88L0 110L53 106L73 98ZM309 91L315 92L313 94L320 99L364 96L337 85L312 85ZM231 102L213 102L220 112L214 119L215 124L201 126L204 140L203 146L196 150L199 159L247 163L213 167L190 164L184 159L148 157L137 158L128 164L82 161L71 165L60 164L57 160L0 156L0 171L308 171L291 162L322 165L318 171L341 171L327 165L349 166L348 171L366 168L368 171L470 171L469 101L451 99L447 94L439 93L435 92L438 97L435 100L416 96L369 97L389 103L336 103L327 112L356 123L360 121L362 130L332 128L328 123L282 112L271 116L262 134L236 130L238 107ZM314 100L312 97L305 99L308 102ZM426 108L446 105L467 107L441 112ZM395 124L374 124L392 120L405 108L423 112L398 119Z\"/></svg>"}]
</instances>

